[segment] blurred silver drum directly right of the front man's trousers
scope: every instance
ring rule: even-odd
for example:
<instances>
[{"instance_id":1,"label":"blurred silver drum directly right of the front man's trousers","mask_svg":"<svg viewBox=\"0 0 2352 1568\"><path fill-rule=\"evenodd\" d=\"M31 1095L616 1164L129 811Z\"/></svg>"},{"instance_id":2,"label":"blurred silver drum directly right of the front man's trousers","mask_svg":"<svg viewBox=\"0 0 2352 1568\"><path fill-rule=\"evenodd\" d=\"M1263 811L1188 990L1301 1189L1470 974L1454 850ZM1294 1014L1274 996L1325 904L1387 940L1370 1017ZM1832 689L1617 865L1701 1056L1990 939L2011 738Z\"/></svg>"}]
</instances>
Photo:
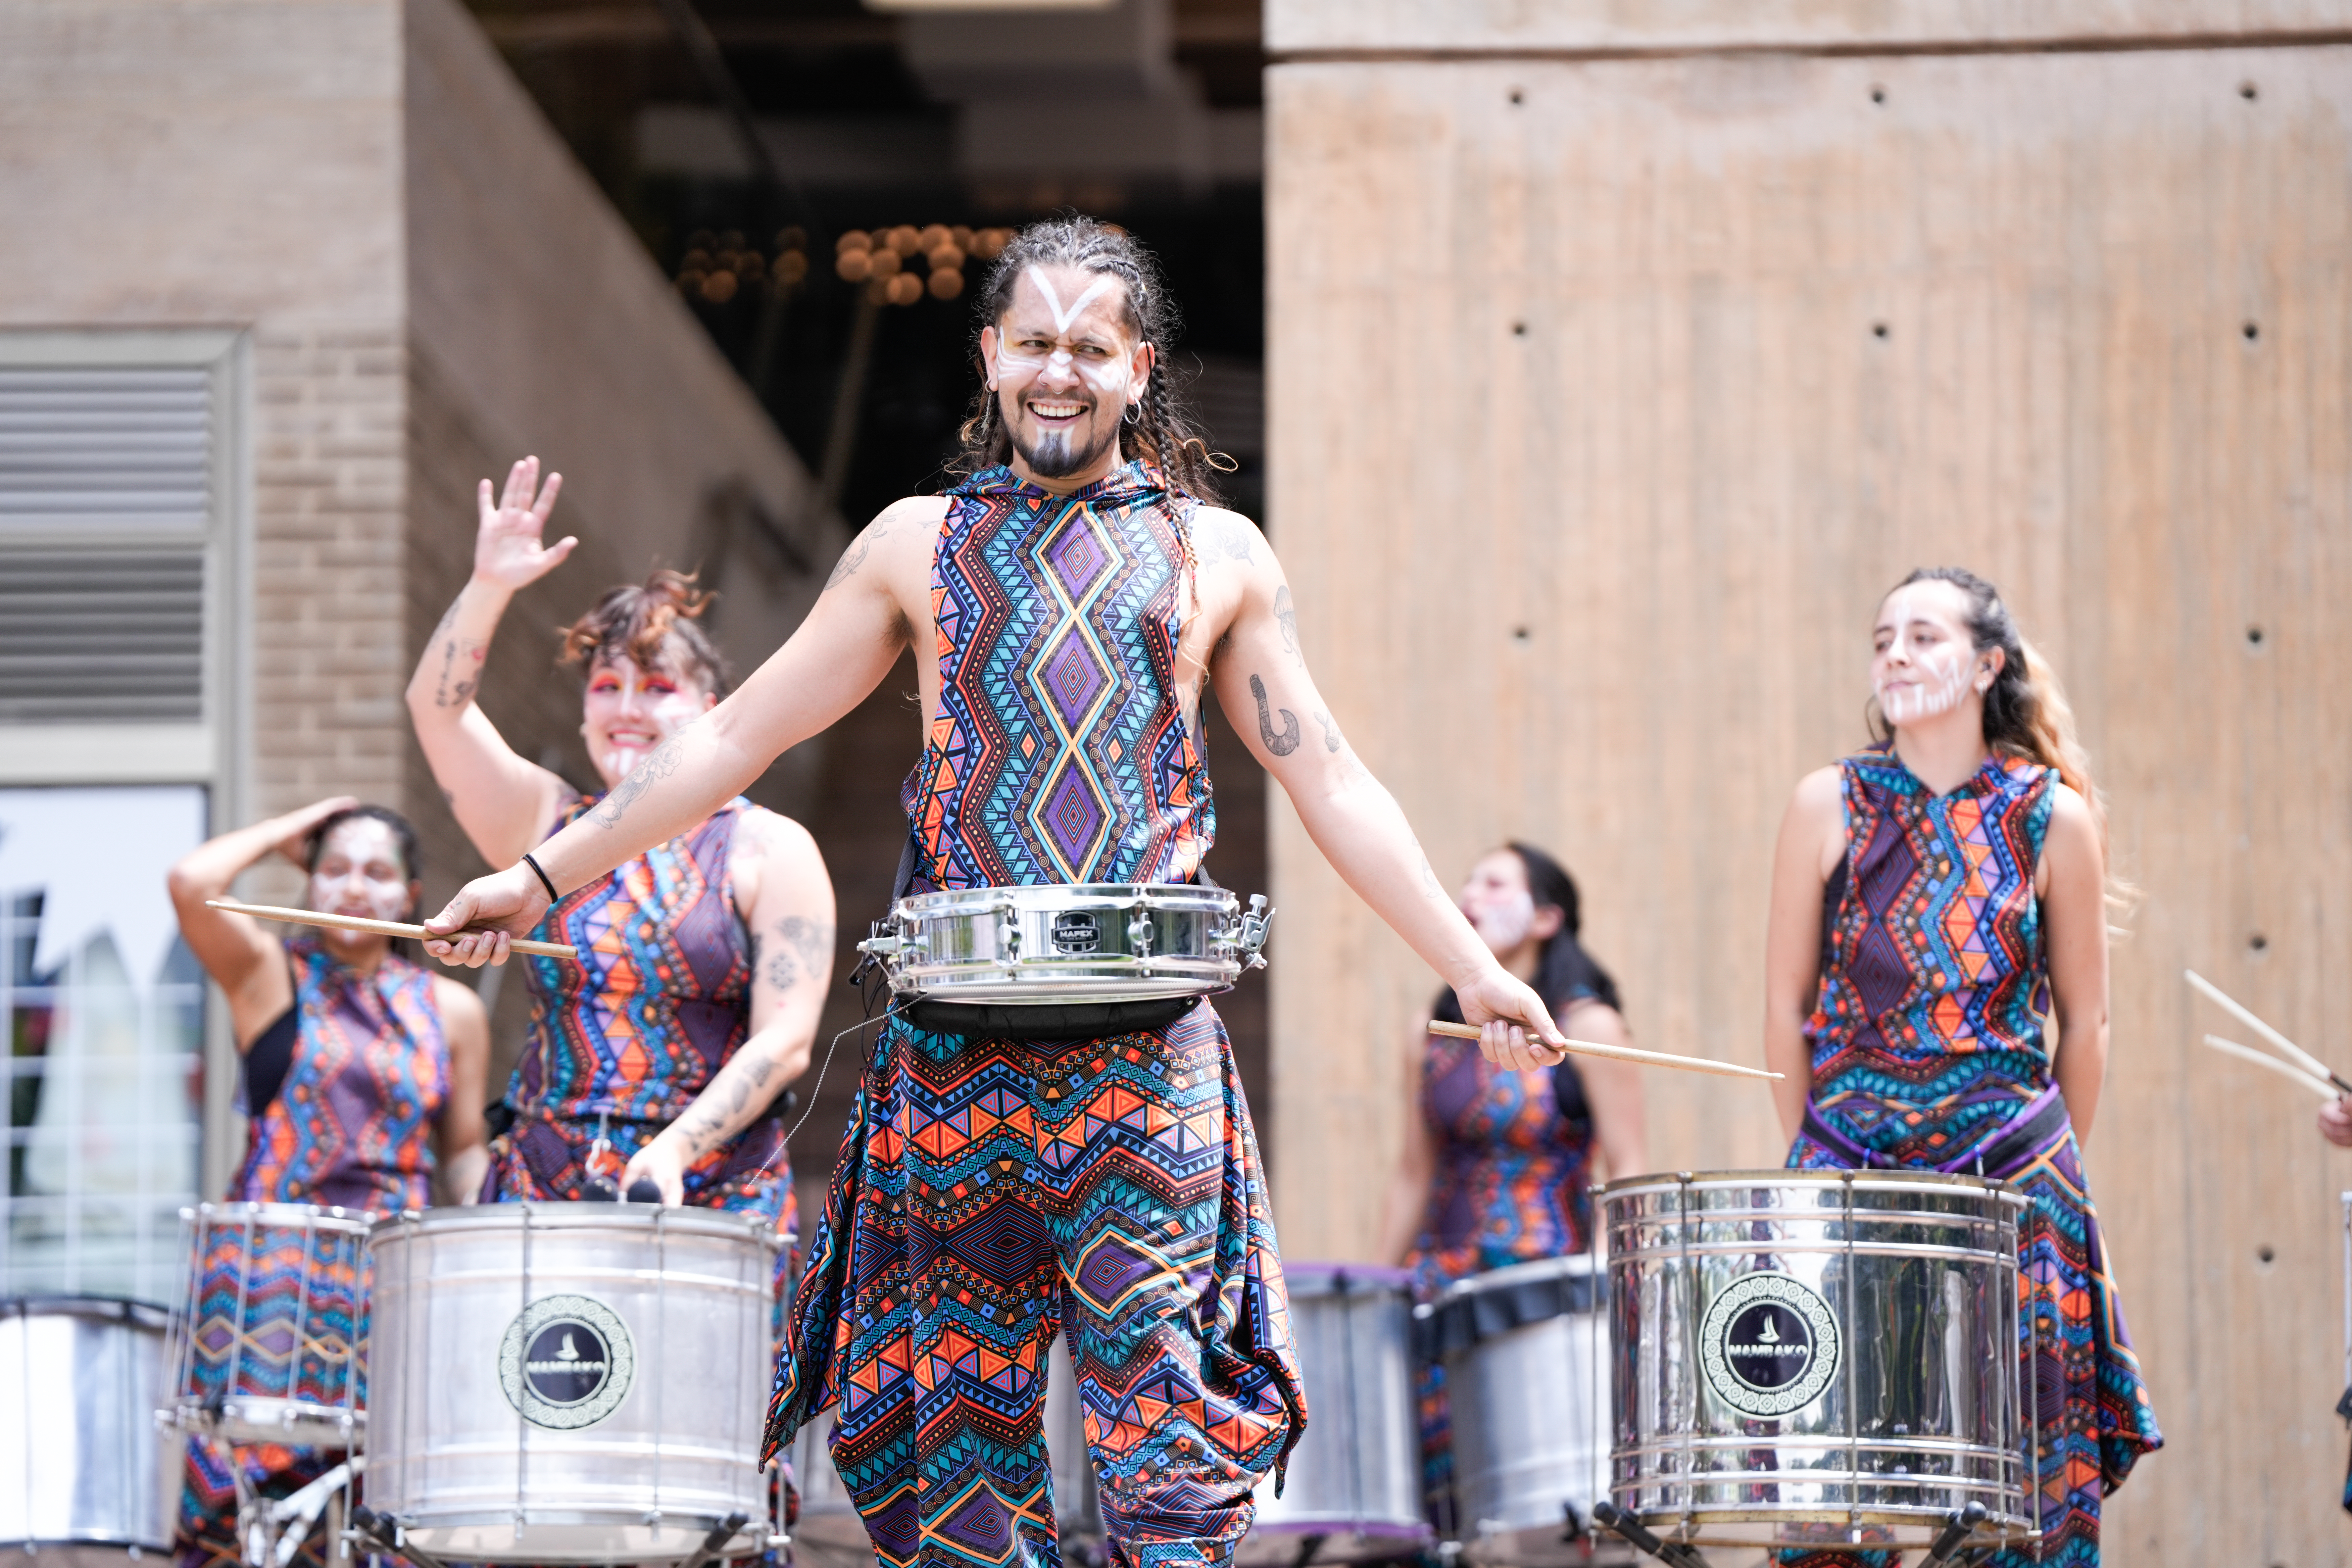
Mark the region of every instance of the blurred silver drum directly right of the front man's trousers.
<instances>
[{"instance_id":1,"label":"blurred silver drum directly right of the front man's trousers","mask_svg":"<svg viewBox=\"0 0 2352 1568\"><path fill-rule=\"evenodd\" d=\"M1294 1563L1308 1535L1324 1537L1317 1563L1411 1556L1430 1540L1411 1276L1352 1262L1291 1262L1282 1274L1310 1420L1282 1495L1258 1486L1258 1519L1237 1561Z\"/></svg>"}]
</instances>

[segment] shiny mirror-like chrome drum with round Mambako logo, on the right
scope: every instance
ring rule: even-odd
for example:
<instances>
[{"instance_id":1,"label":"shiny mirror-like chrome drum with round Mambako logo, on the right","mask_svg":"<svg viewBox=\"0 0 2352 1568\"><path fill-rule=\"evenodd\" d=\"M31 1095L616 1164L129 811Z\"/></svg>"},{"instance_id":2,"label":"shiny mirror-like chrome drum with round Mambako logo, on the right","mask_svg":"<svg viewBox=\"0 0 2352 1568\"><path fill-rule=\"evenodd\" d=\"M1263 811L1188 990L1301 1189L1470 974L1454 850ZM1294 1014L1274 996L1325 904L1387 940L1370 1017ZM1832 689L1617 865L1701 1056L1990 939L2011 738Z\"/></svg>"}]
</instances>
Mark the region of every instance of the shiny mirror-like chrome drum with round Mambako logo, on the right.
<instances>
[{"instance_id":1,"label":"shiny mirror-like chrome drum with round Mambako logo, on the right","mask_svg":"<svg viewBox=\"0 0 2352 1568\"><path fill-rule=\"evenodd\" d=\"M1609 1490L1670 1540L2020 1544L2032 1410L2006 1182L1722 1171L1611 1182Z\"/></svg>"}]
</instances>

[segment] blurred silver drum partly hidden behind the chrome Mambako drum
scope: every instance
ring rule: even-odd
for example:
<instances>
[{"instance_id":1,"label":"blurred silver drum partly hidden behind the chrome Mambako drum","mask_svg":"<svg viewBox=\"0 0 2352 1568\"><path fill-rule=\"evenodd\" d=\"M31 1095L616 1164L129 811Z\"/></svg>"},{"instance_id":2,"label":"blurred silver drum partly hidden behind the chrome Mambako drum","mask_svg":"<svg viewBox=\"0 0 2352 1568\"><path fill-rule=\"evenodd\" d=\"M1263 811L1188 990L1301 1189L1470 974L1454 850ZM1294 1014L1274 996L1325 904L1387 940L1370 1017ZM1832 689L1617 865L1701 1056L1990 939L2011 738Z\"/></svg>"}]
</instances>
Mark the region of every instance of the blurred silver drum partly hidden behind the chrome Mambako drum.
<instances>
[{"instance_id":1,"label":"blurred silver drum partly hidden behind the chrome Mambako drum","mask_svg":"<svg viewBox=\"0 0 2352 1568\"><path fill-rule=\"evenodd\" d=\"M1583 1563L1609 1453L1609 1361L1590 1258L1548 1258L1456 1284L1437 1309L1503 1324L1444 1354L1454 1509L1479 1563ZM1534 1305L1529 1305L1534 1302ZM1461 1335L1470 1338L1470 1335ZM1613 1537L1606 1537L1613 1544Z\"/></svg>"}]
</instances>

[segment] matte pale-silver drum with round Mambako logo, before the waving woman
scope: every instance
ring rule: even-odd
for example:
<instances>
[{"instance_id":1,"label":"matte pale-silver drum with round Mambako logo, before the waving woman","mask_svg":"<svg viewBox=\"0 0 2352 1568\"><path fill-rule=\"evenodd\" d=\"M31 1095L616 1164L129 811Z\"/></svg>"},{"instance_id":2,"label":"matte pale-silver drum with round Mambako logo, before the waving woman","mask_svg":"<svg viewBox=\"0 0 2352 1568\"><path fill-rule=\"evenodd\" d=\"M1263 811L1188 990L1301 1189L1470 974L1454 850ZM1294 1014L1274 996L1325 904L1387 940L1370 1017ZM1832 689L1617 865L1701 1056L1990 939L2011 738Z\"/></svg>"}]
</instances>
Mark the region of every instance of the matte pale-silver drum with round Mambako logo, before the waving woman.
<instances>
[{"instance_id":1,"label":"matte pale-silver drum with round Mambako logo, before the waving woman","mask_svg":"<svg viewBox=\"0 0 2352 1568\"><path fill-rule=\"evenodd\" d=\"M762 1218L492 1204L383 1220L372 1251L367 1495L405 1540L445 1561L654 1563L736 1512L764 1528L776 1239ZM604 1324L612 1380L626 1345L604 1415L546 1427L517 1410L510 1338L541 1354L527 1307Z\"/></svg>"}]
</instances>

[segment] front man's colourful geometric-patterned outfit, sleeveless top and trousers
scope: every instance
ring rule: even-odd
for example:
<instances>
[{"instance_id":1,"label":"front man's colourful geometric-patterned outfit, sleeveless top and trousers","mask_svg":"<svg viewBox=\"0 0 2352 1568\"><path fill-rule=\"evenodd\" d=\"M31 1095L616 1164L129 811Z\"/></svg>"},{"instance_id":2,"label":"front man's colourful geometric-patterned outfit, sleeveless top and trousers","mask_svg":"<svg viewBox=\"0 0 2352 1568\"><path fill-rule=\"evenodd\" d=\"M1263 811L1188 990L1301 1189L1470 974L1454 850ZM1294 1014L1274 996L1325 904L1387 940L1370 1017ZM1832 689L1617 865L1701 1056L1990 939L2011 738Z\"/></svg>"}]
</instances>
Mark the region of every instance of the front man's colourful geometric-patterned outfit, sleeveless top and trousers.
<instances>
[{"instance_id":1,"label":"front man's colourful geometric-patterned outfit, sleeveless top and trousers","mask_svg":"<svg viewBox=\"0 0 2352 1568\"><path fill-rule=\"evenodd\" d=\"M929 889L1188 882L1214 837L1176 703L1185 501L948 491L941 712L903 792ZM1216 1011L1023 1041L891 1018L776 1368L769 1450L837 1406L884 1568L1054 1568L1037 1406L1068 1335L1120 1563L1230 1561L1305 1422L1249 1107Z\"/></svg>"}]
</instances>

